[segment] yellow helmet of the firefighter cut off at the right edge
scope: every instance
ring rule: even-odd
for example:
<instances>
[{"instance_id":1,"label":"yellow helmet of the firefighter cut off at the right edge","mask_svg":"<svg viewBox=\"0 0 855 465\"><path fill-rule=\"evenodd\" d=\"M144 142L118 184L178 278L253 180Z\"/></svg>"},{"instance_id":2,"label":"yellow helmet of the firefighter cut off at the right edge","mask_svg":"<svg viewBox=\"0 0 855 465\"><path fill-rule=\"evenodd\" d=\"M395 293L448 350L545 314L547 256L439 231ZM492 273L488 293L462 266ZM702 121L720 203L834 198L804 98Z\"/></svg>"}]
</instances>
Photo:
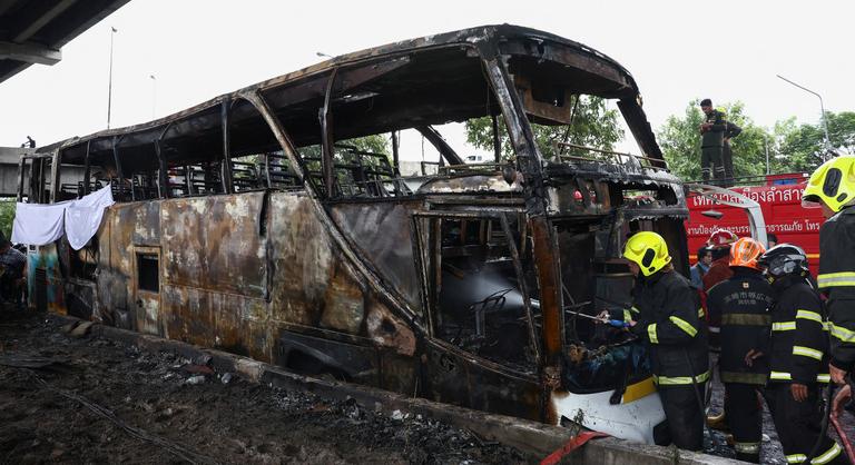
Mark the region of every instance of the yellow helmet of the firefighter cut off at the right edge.
<instances>
[{"instance_id":1,"label":"yellow helmet of the firefighter cut off at the right edge","mask_svg":"<svg viewBox=\"0 0 855 465\"><path fill-rule=\"evenodd\" d=\"M802 205L810 208L819 202L834 211L855 202L855 157L833 158L810 175L802 192Z\"/></svg>"}]
</instances>

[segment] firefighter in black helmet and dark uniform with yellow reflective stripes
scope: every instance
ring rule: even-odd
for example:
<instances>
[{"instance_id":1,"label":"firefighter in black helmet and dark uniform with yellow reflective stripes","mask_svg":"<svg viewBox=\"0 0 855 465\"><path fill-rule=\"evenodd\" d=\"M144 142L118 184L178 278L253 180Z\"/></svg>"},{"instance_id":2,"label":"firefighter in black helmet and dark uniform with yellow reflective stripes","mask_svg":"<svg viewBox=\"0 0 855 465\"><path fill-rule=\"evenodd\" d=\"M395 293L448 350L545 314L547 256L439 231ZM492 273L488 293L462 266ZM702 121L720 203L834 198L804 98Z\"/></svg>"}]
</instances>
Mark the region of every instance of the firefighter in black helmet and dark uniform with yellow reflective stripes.
<instances>
[{"instance_id":1,"label":"firefighter in black helmet and dark uniform with yellow reflective stripes","mask_svg":"<svg viewBox=\"0 0 855 465\"><path fill-rule=\"evenodd\" d=\"M829 380L828 334L807 256L799 247L782 244L759 261L775 293L765 397L787 463L845 464L843 448L827 436L820 438L820 389Z\"/></svg>"}]
</instances>

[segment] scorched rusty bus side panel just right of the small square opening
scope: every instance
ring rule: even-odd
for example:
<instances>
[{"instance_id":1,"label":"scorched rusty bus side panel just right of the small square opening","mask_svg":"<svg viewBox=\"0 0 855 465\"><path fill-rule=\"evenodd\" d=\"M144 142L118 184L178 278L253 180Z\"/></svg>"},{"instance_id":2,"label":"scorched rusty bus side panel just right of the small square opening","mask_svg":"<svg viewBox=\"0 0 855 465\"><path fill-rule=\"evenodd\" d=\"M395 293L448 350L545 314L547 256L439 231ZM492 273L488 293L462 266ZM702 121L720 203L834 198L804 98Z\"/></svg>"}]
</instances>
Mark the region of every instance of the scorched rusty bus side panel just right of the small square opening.
<instances>
[{"instance_id":1,"label":"scorched rusty bus side panel just right of the small square opening","mask_svg":"<svg viewBox=\"0 0 855 465\"><path fill-rule=\"evenodd\" d=\"M163 202L167 337L269 360L264 194Z\"/></svg>"}]
</instances>

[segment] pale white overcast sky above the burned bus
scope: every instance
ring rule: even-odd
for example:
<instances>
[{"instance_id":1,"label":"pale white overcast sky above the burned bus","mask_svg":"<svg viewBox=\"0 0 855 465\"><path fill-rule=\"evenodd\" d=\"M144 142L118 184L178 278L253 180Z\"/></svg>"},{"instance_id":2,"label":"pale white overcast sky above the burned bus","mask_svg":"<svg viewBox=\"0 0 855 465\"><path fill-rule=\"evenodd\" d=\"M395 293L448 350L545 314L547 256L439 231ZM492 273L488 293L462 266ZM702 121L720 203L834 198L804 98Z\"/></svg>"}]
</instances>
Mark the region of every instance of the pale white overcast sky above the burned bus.
<instances>
[{"instance_id":1,"label":"pale white overcast sky above the burned bus","mask_svg":"<svg viewBox=\"0 0 855 465\"><path fill-rule=\"evenodd\" d=\"M790 116L818 122L818 99L776 75L820 93L827 110L855 110L852 18L852 1L131 0L63 47L59 63L33 65L0 83L0 146L17 147L27 136L48 145L107 127L111 27L118 30L111 127L324 60L317 52L509 22L582 42L623 65L656 130L706 97L741 100L760 126ZM462 138L460 128L450 130L458 131L450 139ZM406 138L402 144L414 144Z\"/></svg>"}]
</instances>

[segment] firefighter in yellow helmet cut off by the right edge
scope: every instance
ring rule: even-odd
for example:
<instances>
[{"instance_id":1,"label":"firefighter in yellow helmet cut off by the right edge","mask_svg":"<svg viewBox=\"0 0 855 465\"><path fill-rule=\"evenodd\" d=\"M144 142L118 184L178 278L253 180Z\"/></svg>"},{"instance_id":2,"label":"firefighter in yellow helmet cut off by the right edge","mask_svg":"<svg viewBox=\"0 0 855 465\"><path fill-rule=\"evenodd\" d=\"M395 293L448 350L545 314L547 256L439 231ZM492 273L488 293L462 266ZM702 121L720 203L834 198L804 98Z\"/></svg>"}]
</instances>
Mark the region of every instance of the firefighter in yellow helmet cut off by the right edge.
<instances>
[{"instance_id":1,"label":"firefighter in yellow helmet cut off by the right edge","mask_svg":"<svg viewBox=\"0 0 855 465\"><path fill-rule=\"evenodd\" d=\"M822 207L819 290L828 297L832 380L844 384L855 366L855 157L837 157L810 175L805 207Z\"/></svg>"}]
</instances>

